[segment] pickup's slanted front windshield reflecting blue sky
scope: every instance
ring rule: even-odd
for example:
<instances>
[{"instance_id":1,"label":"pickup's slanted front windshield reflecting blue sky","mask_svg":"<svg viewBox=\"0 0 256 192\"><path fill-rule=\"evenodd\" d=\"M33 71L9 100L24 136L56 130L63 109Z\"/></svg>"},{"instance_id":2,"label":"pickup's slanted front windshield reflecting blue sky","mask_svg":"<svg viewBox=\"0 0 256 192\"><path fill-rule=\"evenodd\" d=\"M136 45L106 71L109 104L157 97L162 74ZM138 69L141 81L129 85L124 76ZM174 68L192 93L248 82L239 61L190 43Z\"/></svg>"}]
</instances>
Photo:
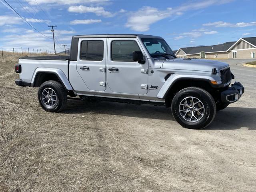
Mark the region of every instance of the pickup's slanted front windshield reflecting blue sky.
<instances>
[{"instance_id":1,"label":"pickup's slanted front windshield reflecting blue sky","mask_svg":"<svg viewBox=\"0 0 256 192\"><path fill-rule=\"evenodd\" d=\"M143 44L147 48L150 56L153 58L158 57L176 57L172 52L171 48L165 42L164 39L161 38L141 38Z\"/></svg>"}]
</instances>

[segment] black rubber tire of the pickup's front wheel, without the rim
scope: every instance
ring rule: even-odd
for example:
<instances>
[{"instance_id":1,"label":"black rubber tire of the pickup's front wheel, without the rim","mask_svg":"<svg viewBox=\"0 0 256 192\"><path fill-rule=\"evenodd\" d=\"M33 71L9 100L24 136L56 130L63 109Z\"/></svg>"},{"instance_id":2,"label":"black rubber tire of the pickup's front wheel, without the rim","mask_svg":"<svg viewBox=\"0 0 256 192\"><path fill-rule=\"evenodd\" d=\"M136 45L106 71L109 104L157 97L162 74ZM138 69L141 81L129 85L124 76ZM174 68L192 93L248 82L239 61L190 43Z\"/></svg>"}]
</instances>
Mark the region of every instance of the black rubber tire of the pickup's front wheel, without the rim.
<instances>
[{"instance_id":1,"label":"black rubber tire of the pickup's front wheel, without the rim","mask_svg":"<svg viewBox=\"0 0 256 192\"><path fill-rule=\"evenodd\" d=\"M187 97L198 98L198 100L200 100L204 106L204 114L197 122L189 122L188 120L185 120L180 114L180 103L182 100L184 100L184 98ZM216 103L212 95L202 88L184 88L180 90L172 99L172 115L174 119L185 128L202 129L208 126L214 120L216 115Z\"/></svg>"}]
</instances>

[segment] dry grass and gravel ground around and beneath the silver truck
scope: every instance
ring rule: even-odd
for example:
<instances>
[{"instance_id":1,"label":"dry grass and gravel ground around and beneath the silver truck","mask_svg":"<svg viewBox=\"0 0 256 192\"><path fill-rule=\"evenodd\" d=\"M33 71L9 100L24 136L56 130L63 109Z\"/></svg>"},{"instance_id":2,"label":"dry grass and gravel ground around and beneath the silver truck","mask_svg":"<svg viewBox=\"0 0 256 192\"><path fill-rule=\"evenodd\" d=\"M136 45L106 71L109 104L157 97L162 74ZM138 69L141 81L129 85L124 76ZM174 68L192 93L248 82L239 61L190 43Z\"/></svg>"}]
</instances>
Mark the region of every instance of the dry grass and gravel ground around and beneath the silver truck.
<instances>
[{"instance_id":1,"label":"dry grass and gravel ground around and beneath the silver truck","mask_svg":"<svg viewBox=\"0 0 256 192\"><path fill-rule=\"evenodd\" d=\"M204 130L151 105L69 100L48 113L1 63L0 191L254 192L256 69L223 62L245 93Z\"/></svg>"}]
</instances>

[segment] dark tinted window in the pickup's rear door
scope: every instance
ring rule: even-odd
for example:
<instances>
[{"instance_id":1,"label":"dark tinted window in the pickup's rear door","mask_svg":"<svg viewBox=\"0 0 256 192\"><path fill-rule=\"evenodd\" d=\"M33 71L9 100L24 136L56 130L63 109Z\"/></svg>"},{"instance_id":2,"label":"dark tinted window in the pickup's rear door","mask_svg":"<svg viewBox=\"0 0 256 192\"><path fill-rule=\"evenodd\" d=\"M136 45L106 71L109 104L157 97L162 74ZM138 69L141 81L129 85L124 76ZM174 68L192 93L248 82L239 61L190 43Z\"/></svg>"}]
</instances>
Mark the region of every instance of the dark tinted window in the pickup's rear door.
<instances>
[{"instance_id":1,"label":"dark tinted window in the pickup's rear door","mask_svg":"<svg viewBox=\"0 0 256 192\"><path fill-rule=\"evenodd\" d=\"M104 42L102 40L86 40L81 42L81 60L103 60Z\"/></svg>"}]
</instances>

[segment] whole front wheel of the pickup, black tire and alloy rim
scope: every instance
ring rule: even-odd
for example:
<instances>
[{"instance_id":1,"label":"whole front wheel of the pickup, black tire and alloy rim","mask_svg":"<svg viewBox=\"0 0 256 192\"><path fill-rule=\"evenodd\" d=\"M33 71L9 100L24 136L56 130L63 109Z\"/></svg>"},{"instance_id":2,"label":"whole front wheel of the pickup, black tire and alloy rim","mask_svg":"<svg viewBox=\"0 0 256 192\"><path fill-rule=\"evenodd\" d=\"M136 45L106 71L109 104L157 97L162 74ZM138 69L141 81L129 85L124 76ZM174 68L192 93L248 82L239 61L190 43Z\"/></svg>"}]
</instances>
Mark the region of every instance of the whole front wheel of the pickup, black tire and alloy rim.
<instances>
[{"instance_id":1,"label":"whole front wheel of the pickup, black tire and alloy rim","mask_svg":"<svg viewBox=\"0 0 256 192\"><path fill-rule=\"evenodd\" d=\"M214 120L216 104L214 98L206 90L188 87L174 96L172 115L185 128L201 129Z\"/></svg>"}]
</instances>

